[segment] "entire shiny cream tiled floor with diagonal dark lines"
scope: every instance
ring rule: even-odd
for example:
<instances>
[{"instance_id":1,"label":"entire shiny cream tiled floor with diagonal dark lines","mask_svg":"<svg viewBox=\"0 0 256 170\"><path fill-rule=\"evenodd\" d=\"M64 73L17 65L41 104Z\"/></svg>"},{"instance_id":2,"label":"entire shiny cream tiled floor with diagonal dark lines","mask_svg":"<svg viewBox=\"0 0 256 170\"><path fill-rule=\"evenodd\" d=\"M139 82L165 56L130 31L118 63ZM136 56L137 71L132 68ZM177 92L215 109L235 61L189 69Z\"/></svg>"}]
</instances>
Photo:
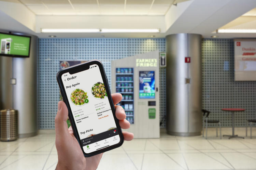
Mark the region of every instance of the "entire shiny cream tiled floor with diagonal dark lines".
<instances>
[{"instance_id":1,"label":"entire shiny cream tiled floor with diagonal dark lines","mask_svg":"<svg viewBox=\"0 0 256 170\"><path fill-rule=\"evenodd\" d=\"M245 128L236 128L245 136ZM222 134L231 134L223 128ZM134 139L103 154L99 170L201 170L256 169L256 128L253 139L219 139L210 128L202 136L178 137L161 133L160 139ZM55 169L57 164L54 130L40 130L38 136L0 142L0 169Z\"/></svg>"}]
</instances>

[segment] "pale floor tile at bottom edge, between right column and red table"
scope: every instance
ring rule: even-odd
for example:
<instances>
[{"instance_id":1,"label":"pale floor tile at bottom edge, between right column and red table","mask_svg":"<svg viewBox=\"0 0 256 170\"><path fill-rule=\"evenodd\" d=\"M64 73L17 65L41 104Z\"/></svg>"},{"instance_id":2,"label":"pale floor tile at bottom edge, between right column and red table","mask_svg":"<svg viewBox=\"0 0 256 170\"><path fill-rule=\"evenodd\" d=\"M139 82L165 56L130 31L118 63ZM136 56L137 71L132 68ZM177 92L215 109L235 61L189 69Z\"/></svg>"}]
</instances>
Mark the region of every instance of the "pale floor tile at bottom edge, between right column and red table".
<instances>
[{"instance_id":1,"label":"pale floor tile at bottom edge, between right column and red table","mask_svg":"<svg viewBox=\"0 0 256 170\"><path fill-rule=\"evenodd\" d=\"M203 153L184 153L183 154L189 169L230 169L217 160Z\"/></svg>"}]
</instances>

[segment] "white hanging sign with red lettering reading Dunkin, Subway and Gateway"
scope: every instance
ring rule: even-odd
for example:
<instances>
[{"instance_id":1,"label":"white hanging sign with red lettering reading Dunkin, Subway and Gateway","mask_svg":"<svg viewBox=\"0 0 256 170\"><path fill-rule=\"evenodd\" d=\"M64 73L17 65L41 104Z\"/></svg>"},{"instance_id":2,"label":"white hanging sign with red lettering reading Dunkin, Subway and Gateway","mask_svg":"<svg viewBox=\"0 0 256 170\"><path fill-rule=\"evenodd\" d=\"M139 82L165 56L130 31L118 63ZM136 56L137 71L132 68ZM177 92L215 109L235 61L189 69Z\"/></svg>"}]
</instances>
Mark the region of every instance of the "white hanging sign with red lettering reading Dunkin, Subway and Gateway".
<instances>
[{"instance_id":1,"label":"white hanging sign with red lettering reading Dunkin, Subway and Gateway","mask_svg":"<svg viewBox=\"0 0 256 170\"><path fill-rule=\"evenodd\" d=\"M235 81L256 81L256 39L234 40Z\"/></svg>"}]
</instances>

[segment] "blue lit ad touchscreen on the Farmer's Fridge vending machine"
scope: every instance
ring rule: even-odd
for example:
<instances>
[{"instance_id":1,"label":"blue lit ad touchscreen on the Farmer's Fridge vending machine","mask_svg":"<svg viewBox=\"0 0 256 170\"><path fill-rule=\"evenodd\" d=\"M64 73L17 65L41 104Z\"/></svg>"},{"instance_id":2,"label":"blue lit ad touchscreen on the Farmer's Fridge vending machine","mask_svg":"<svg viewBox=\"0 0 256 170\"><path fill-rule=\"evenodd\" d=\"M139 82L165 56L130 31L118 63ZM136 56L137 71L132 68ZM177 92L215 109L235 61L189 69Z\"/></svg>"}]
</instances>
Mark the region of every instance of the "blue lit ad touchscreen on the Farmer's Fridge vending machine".
<instances>
[{"instance_id":1,"label":"blue lit ad touchscreen on the Farmer's Fridge vending machine","mask_svg":"<svg viewBox=\"0 0 256 170\"><path fill-rule=\"evenodd\" d=\"M140 99L155 99L155 71L140 71Z\"/></svg>"}]
</instances>

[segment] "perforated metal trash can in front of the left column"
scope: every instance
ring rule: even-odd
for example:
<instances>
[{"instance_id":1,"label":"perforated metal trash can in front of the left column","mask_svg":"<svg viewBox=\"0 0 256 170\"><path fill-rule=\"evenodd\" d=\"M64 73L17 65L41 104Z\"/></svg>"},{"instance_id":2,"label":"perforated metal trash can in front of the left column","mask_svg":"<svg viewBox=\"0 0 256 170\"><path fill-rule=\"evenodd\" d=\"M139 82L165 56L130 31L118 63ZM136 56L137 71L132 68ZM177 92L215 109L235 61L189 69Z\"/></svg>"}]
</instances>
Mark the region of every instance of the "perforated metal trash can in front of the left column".
<instances>
[{"instance_id":1,"label":"perforated metal trash can in front of the left column","mask_svg":"<svg viewBox=\"0 0 256 170\"><path fill-rule=\"evenodd\" d=\"M18 139L18 111L5 109L0 112L0 140L12 141Z\"/></svg>"}]
</instances>

